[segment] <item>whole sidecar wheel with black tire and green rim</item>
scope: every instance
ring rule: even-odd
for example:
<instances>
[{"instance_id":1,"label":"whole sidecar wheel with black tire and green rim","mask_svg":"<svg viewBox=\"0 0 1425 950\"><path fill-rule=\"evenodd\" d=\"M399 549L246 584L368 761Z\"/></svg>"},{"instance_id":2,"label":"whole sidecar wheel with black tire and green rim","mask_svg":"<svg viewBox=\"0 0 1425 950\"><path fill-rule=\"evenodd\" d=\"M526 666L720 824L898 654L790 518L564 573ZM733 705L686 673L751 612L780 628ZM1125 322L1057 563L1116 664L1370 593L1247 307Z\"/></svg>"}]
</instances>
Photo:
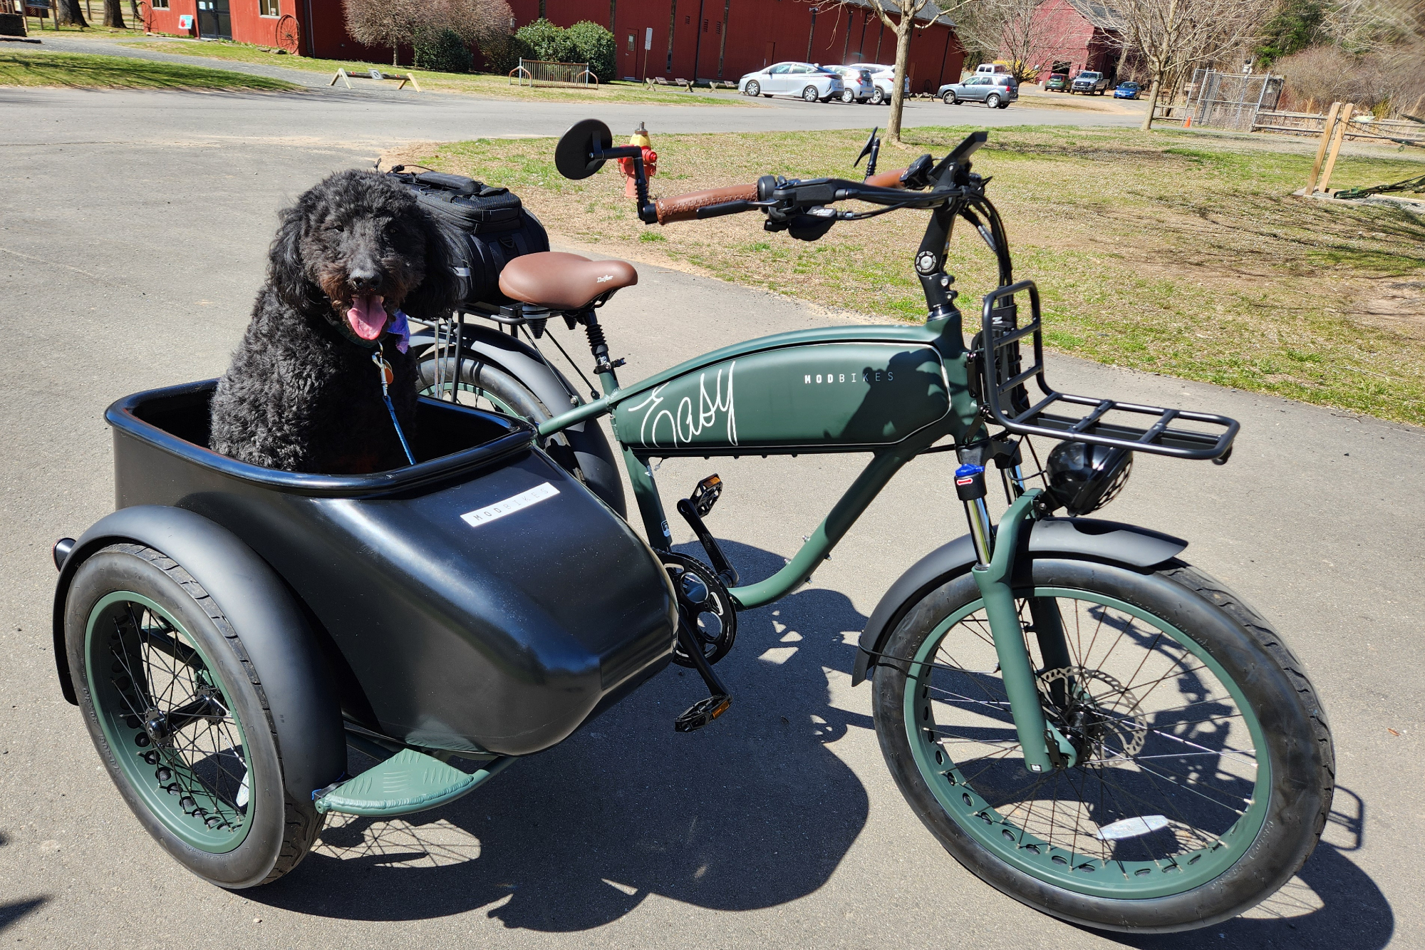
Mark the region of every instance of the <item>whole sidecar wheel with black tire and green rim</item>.
<instances>
[{"instance_id":1,"label":"whole sidecar wheel with black tire and green rim","mask_svg":"<svg viewBox=\"0 0 1425 950\"><path fill-rule=\"evenodd\" d=\"M110 545L74 575L64 636L84 725L144 829L219 887L276 880L322 827L285 790L262 683L184 568Z\"/></svg>"}]
</instances>

